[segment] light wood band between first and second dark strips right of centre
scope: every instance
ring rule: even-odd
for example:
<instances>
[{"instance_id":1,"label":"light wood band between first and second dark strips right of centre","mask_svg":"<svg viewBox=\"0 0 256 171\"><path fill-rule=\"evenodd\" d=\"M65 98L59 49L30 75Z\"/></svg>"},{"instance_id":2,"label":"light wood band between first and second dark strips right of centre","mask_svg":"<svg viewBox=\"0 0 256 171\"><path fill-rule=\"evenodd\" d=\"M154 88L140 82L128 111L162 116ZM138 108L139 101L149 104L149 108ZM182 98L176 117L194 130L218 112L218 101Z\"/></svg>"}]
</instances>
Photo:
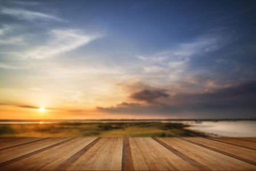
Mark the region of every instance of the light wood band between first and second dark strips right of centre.
<instances>
[{"instance_id":1,"label":"light wood band between first and second dark strips right of centre","mask_svg":"<svg viewBox=\"0 0 256 171\"><path fill-rule=\"evenodd\" d=\"M255 170L256 166L177 138L159 138L211 170Z\"/></svg>"}]
</instances>

